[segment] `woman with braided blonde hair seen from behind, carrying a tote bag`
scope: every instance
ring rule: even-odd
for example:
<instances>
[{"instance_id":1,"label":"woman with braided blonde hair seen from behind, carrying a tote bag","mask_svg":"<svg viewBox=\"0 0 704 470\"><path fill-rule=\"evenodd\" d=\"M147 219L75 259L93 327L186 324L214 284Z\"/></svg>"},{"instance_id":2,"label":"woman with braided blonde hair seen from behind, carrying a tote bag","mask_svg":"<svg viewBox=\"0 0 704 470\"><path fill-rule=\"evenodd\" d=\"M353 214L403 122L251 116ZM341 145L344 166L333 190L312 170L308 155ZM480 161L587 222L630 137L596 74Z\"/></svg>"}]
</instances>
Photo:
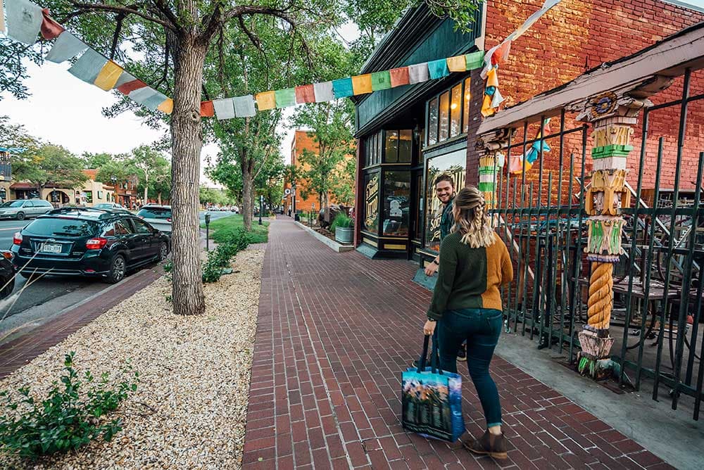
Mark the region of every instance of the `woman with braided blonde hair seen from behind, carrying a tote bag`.
<instances>
[{"instance_id":1,"label":"woman with braided blonde hair seen from behind, carrying a tote bag","mask_svg":"<svg viewBox=\"0 0 704 470\"><path fill-rule=\"evenodd\" d=\"M440 246L439 277L423 331L433 334L439 324L440 366L449 372L457 372L455 351L467 341L467 367L486 417L484 436L467 448L505 459L501 402L489 363L503 325L499 287L513 279L513 266L479 189L469 186L457 193L453 216L453 231Z\"/></svg>"}]
</instances>

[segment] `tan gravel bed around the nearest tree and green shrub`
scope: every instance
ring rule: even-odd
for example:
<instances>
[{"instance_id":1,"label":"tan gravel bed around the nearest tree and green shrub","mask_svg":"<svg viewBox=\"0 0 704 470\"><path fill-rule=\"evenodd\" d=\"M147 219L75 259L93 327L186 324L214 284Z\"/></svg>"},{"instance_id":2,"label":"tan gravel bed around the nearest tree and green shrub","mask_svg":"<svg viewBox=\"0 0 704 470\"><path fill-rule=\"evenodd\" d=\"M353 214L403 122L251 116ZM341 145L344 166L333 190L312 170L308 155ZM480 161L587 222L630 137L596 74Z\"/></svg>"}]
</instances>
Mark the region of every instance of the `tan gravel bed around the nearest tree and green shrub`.
<instances>
[{"instance_id":1,"label":"tan gravel bed around the nearest tree and green shrub","mask_svg":"<svg viewBox=\"0 0 704 470\"><path fill-rule=\"evenodd\" d=\"M173 315L162 277L0 381L0 390L30 386L42 398L70 351L80 374L113 378L128 358L139 371L137 392L111 415L123 421L111 442L29 468L240 468L263 257L244 250L239 272L206 284L205 315ZM18 465L2 458L0 468Z\"/></svg>"}]
</instances>

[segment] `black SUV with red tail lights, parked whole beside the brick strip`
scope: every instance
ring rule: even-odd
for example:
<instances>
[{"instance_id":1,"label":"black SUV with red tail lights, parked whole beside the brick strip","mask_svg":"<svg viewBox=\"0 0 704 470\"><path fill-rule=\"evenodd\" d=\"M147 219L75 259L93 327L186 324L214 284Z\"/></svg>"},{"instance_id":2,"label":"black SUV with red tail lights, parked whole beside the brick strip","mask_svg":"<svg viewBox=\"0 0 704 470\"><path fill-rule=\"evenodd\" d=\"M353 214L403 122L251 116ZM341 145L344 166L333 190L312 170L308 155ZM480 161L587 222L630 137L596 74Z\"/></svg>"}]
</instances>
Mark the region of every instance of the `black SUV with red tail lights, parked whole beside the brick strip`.
<instances>
[{"instance_id":1,"label":"black SUV with red tail lights, parked whole beside the brick strip","mask_svg":"<svg viewBox=\"0 0 704 470\"><path fill-rule=\"evenodd\" d=\"M166 258L168 235L124 210L61 208L15 234L15 269L39 274L122 280L133 269Z\"/></svg>"}]
</instances>

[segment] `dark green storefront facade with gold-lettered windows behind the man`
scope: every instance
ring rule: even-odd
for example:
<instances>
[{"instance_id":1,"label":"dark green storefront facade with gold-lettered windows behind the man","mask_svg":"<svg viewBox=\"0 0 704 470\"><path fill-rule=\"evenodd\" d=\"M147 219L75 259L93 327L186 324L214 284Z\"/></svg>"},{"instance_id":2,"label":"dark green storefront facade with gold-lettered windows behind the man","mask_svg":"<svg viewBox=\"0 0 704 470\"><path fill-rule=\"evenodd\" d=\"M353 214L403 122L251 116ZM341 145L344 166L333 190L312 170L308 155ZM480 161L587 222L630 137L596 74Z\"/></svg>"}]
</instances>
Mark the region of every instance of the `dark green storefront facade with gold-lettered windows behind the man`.
<instances>
[{"instance_id":1,"label":"dark green storefront facade with gold-lettered windows behind the man","mask_svg":"<svg viewBox=\"0 0 704 470\"><path fill-rule=\"evenodd\" d=\"M423 4L406 11L360 73L389 70L483 49L482 11L472 32L455 31ZM357 249L371 258L429 259L439 246L435 177L465 185L467 136L479 116L477 71L376 91L356 104ZM472 85L476 90L472 91ZM478 90L478 92L477 92Z\"/></svg>"}]
</instances>

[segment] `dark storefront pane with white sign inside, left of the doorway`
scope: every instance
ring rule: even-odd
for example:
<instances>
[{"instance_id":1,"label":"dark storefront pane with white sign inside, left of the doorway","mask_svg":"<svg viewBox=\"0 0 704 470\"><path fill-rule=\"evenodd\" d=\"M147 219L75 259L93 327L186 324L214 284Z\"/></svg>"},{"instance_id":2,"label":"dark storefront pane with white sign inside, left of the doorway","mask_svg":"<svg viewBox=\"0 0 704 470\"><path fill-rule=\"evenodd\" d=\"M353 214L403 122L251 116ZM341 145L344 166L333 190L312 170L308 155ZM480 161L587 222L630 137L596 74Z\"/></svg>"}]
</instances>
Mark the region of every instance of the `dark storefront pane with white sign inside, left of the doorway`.
<instances>
[{"instance_id":1,"label":"dark storefront pane with white sign inside, left of the doorway","mask_svg":"<svg viewBox=\"0 0 704 470\"><path fill-rule=\"evenodd\" d=\"M408 236L410 172L384 174L384 236Z\"/></svg>"}]
</instances>

